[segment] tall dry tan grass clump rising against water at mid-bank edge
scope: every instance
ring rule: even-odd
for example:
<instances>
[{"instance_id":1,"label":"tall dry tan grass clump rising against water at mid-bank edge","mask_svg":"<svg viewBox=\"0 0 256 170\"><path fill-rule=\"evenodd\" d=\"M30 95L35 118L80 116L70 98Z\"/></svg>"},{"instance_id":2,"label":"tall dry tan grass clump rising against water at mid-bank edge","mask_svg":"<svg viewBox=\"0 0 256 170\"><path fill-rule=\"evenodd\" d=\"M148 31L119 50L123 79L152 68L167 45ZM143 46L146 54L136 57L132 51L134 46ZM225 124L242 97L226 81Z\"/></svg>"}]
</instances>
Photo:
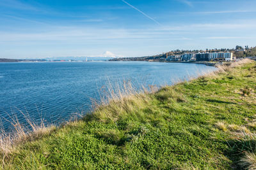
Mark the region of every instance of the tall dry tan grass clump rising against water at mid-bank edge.
<instances>
[{"instance_id":1,"label":"tall dry tan grass clump rising against water at mid-bank edge","mask_svg":"<svg viewBox=\"0 0 256 170\"><path fill-rule=\"evenodd\" d=\"M148 93L156 92L157 87L142 87L136 90L130 81L124 81L122 87L109 83L108 94L103 95L99 103L93 103L92 117L102 122L116 121L124 115L136 113L148 103Z\"/></svg>"}]
</instances>

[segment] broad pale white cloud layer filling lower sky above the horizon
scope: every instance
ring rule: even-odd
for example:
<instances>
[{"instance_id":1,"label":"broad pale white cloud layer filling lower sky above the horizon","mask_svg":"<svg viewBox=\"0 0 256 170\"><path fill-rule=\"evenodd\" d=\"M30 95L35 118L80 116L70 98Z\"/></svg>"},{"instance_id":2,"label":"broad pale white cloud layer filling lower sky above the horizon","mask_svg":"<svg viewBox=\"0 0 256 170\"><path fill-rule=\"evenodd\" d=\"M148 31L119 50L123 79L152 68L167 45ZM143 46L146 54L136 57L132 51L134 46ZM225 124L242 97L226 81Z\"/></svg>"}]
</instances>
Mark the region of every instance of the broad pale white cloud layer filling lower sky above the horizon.
<instances>
[{"instance_id":1,"label":"broad pale white cloud layer filling lower sky above the horizon","mask_svg":"<svg viewBox=\"0 0 256 170\"><path fill-rule=\"evenodd\" d=\"M232 43L237 42L251 45L255 39L246 39L246 36L255 38L256 34L253 33L256 26L255 21L232 20L223 23L208 22L141 29L123 29L120 27L106 29L67 25L42 25L42 27L37 27L38 29L17 28L15 31L0 29L0 50L2 56L13 58L15 56L73 55L122 57L122 55L151 55L155 52L163 52L170 47L174 49L184 48L184 46L199 48L198 46L202 46L202 44L214 46L216 41L218 41L218 45L223 42L224 46L226 46L224 42L227 45L233 45ZM244 38L239 36L244 36ZM218 39L223 39L223 41ZM99 52L99 49L102 52Z\"/></svg>"}]
</instances>

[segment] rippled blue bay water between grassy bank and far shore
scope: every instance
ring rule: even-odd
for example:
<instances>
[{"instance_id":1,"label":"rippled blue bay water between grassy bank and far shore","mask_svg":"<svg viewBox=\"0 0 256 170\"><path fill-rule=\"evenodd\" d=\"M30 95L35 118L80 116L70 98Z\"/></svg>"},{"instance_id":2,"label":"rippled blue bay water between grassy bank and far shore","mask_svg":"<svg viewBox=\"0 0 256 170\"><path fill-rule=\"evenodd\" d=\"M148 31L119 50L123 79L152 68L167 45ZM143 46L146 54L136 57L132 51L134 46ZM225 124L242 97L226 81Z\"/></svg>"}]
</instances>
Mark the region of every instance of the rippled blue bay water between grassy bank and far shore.
<instances>
[{"instance_id":1,"label":"rippled blue bay water between grassy bank and far shore","mask_svg":"<svg viewBox=\"0 0 256 170\"><path fill-rule=\"evenodd\" d=\"M72 113L91 109L100 89L116 82L172 85L188 76L214 71L203 64L164 62L5 62L0 63L0 119L5 129L12 115L26 125L23 113L35 122L67 121Z\"/></svg>"}]
</instances>

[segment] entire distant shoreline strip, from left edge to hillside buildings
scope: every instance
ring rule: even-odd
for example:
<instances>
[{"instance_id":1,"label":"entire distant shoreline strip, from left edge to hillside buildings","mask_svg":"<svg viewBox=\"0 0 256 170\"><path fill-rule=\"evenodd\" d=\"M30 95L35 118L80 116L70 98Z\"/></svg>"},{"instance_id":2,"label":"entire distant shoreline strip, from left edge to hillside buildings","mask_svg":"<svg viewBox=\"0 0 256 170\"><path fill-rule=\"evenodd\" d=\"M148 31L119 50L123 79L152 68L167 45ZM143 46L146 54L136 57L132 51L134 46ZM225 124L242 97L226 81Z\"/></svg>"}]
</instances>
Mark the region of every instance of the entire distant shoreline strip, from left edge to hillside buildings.
<instances>
[{"instance_id":1,"label":"entire distant shoreline strip, from left edge to hillside buildings","mask_svg":"<svg viewBox=\"0 0 256 170\"><path fill-rule=\"evenodd\" d=\"M0 59L0 62L89 62L89 61L148 61L148 62L228 62L241 58L256 60L256 46L206 50L172 50L144 57L48 57L45 59Z\"/></svg>"}]
</instances>

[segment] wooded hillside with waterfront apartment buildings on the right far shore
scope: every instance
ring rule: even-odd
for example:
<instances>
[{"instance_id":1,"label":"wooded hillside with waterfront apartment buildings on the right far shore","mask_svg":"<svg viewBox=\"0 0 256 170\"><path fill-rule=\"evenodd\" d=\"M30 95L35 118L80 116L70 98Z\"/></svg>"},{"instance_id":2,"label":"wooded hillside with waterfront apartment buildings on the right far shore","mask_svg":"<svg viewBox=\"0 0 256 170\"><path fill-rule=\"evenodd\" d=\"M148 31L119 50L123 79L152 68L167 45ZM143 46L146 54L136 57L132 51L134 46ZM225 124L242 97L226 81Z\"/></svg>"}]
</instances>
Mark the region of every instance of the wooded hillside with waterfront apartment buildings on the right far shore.
<instances>
[{"instance_id":1,"label":"wooded hillside with waterfront apartment buildings on the right far shore","mask_svg":"<svg viewBox=\"0 0 256 170\"><path fill-rule=\"evenodd\" d=\"M206 50L172 50L161 55L145 57L125 57L111 59L111 61L159 61L159 62L225 62L244 57L255 59L256 46L248 47L236 46L236 48L227 49L206 49Z\"/></svg>"}]
</instances>

